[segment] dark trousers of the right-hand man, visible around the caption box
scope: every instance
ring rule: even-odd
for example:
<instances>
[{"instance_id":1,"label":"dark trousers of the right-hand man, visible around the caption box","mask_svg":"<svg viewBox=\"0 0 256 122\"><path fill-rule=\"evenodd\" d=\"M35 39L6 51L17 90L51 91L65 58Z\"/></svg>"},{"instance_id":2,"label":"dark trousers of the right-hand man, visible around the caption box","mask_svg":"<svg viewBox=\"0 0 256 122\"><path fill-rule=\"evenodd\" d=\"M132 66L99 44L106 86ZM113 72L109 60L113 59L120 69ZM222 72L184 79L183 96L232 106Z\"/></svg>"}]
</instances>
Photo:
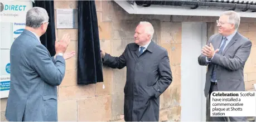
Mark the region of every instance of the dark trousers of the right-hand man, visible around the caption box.
<instances>
[{"instance_id":1,"label":"dark trousers of the right-hand man, visible around the caption box","mask_svg":"<svg viewBox=\"0 0 256 122\"><path fill-rule=\"evenodd\" d=\"M209 91L209 100L210 100L210 104L211 104L211 92L213 91L218 91L218 87L217 84L215 84L214 82L211 82L211 87L210 87L210 91ZM210 117L210 121L228 121L228 119L230 121L247 121L247 119L245 118L245 116L218 116L218 117Z\"/></svg>"}]
</instances>

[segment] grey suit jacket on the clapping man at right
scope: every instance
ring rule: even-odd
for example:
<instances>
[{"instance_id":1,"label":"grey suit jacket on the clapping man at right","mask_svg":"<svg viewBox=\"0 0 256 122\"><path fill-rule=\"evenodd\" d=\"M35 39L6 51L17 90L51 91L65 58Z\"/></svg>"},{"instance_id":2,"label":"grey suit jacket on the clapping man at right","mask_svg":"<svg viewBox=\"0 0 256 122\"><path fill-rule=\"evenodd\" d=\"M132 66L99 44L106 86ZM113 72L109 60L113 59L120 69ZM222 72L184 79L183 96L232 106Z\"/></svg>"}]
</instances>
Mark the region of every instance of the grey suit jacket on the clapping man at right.
<instances>
[{"instance_id":1,"label":"grey suit jacket on the clapping man at right","mask_svg":"<svg viewBox=\"0 0 256 122\"><path fill-rule=\"evenodd\" d=\"M222 35L212 35L209 43L212 43L214 50L220 48ZM206 62L206 57L198 57L199 65L208 66L205 82L205 96L209 94L211 86L212 68L216 65L216 79L219 91L245 91L244 85L244 65L247 61L252 42L248 38L236 32L221 54L215 53L210 63Z\"/></svg>"}]
</instances>

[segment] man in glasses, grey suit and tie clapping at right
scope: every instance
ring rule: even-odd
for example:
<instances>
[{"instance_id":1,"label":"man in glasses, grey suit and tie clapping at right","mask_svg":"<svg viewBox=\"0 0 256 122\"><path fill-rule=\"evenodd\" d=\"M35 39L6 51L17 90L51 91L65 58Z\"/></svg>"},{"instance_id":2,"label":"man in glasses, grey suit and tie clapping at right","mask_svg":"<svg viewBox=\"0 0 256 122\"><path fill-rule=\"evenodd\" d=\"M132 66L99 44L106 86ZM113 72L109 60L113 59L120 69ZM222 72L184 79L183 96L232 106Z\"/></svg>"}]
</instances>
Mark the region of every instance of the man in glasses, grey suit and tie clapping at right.
<instances>
[{"instance_id":1,"label":"man in glasses, grey suit and tie clapping at right","mask_svg":"<svg viewBox=\"0 0 256 122\"><path fill-rule=\"evenodd\" d=\"M239 14L226 11L217 21L219 34L212 35L210 45L202 48L198 57L199 65L208 66L205 96L213 91L245 91L244 65L252 42L237 32ZM216 50L215 50L216 49ZM228 118L212 117L211 121L227 121ZM230 121L246 121L245 117L229 117Z\"/></svg>"}]
</instances>

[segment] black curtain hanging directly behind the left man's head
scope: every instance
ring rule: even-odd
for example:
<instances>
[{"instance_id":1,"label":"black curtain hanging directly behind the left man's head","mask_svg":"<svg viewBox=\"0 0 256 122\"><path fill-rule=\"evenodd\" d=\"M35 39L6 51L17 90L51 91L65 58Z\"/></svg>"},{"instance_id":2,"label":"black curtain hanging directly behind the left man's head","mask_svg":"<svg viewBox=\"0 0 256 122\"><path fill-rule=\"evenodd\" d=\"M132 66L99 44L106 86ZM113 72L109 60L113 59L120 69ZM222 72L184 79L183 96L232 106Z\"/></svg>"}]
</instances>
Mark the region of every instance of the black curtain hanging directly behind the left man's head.
<instances>
[{"instance_id":1,"label":"black curtain hanging directly behind the left man's head","mask_svg":"<svg viewBox=\"0 0 256 122\"><path fill-rule=\"evenodd\" d=\"M44 45L51 56L55 55L55 21L54 21L54 1L35 1L33 7L45 8L49 16L49 25L44 35L40 37L42 45Z\"/></svg>"}]
</instances>

